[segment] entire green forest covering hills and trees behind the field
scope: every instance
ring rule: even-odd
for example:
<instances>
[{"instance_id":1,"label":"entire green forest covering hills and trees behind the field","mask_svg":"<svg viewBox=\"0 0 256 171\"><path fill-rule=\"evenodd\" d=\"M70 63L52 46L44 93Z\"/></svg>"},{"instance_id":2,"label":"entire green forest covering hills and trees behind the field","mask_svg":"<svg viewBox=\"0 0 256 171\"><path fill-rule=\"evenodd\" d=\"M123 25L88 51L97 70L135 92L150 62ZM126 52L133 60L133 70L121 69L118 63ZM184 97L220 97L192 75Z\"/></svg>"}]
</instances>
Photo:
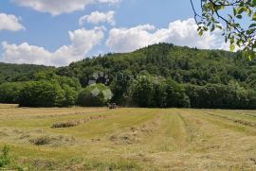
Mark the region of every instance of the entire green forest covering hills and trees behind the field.
<instances>
[{"instance_id":1,"label":"entire green forest covering hills and trees behind the field","mask_svg":"<svg viewBox=\"0 0 256 171\"><path fill-rule=\"evenodd\" d=\"M256 109L256 60L159 43L54 68L0 63L0 102L29 107ZM93 84L92 84L93 83ZM113 96L106 98L111 90Z\"/></svg>"}]
</instances>

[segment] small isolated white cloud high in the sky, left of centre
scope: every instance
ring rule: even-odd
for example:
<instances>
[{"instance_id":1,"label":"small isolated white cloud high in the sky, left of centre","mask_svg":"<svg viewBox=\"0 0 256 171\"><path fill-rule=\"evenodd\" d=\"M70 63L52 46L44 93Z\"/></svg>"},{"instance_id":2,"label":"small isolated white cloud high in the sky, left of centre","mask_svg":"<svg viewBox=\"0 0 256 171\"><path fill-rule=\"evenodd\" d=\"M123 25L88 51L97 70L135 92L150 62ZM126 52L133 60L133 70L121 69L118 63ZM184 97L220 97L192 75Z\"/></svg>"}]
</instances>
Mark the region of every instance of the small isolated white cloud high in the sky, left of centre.
<instances>
[{"instance_id":1,"label":"small isolated white cloud high in the sky, left of centre","mask_svg":"<svg viewBox=\"0 0 256 171\"><path fill-rule=\"evenodd\" d=\"M79 19L79 24L82 26L85 22L90 24L98 25L100 23L108 23L112 26L115 22L115 11L110 10L108 12L94 11L90 15L84 15Z\"/></svg>"}]
</instances>

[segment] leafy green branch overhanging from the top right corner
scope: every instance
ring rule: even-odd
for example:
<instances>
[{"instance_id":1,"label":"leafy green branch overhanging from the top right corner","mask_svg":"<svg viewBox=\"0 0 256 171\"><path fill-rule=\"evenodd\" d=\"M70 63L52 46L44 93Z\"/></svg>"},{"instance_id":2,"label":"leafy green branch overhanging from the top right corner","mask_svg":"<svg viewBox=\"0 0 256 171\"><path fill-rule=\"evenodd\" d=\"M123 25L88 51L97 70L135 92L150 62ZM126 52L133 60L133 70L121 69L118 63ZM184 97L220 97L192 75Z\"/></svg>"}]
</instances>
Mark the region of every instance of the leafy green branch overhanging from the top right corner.
<instances>
[{"instance_id":1,"label":"leafy green branch overhanging from the top right corner","mask_svg":"<svg viewBox=\"0 0 256 171\"><path fill-rule=\"evenodd\" d=\"M237 45L243 47L250 60L255 57L255 0L201 0L202 12L197 12L192 0L191 3L199 35L203 35L204 31L221 29L226 42L230 43L231 51L234 51ZM242 24L245 20L249 23L246 26Z\"/></svg>"}]
</instances>

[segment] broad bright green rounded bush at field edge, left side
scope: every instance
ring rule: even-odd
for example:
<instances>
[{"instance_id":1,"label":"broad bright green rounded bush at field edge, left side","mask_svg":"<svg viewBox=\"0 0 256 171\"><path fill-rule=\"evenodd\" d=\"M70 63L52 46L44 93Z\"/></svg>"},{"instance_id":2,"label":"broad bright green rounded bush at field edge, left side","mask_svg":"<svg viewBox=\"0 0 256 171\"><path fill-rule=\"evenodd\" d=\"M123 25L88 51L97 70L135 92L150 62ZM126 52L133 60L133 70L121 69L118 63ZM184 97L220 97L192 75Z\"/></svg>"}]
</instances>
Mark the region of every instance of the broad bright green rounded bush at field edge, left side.
<instances>
[{"instance_id":1,"label":"broad bright green rounded bush at field edge, left side","mask_svg":"<svg viewBox=\"0 0 256 171\"><path fill-rule=\"evenodd\" d=\"M26 82L19 94L21 107L64 107L76 103L76 88L68 84L60 85L56 80Z\"/></svg>"}]
</instances>

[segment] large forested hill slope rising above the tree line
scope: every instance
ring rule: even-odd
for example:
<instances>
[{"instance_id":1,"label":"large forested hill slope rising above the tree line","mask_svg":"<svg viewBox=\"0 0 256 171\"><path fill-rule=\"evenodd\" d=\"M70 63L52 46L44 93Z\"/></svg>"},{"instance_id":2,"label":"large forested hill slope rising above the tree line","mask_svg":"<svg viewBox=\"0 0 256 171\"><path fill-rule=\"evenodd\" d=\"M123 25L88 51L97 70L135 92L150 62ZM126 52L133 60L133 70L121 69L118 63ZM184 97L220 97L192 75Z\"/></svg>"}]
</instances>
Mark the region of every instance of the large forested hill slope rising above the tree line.
<instances>
[{"instance_id":1,"label":"large forested hill slope rising above the tree line","mask_svg":"<svg viewBox=\"0 0 256 171\"><path fill-rule=\"evenodd\" d=\"M231 80L249 88L256 87L256 60L242 59L241 53L160 43L132 53L107 54L85 59L59 68L58 74L79 77L87 85L94 72L102 71L110 77L118 73L137 76L146 71L153 76L172 78L178 83L195 85L229 84Z\"/></svg>"}]
</instances>

